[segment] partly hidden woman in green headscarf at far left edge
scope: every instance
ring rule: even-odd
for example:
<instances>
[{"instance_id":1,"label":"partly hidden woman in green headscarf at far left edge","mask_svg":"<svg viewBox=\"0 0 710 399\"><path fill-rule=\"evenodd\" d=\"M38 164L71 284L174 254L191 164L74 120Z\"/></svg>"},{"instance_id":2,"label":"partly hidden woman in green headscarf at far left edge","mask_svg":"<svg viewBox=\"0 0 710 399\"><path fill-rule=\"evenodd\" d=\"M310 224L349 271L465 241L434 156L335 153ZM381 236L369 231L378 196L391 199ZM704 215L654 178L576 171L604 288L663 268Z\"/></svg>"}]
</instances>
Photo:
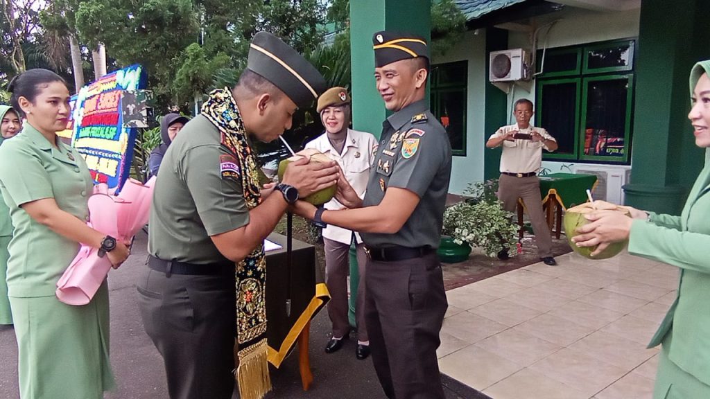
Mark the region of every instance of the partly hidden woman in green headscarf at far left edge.
<instances>
[{"instance_id":1,"label":"partly hidden woman in green headscarf at far left edge","mask_svg":"<svg viewBox=\"0 0 710 399\"><path fill-rule=\"evenodd\" d=\"M7 138L15 136L22 128L17 113L9 105L0 105L0 146ZM12 324L10 300L7 297L7 260L10 253L7 246L12 238L10 209L0 195L0 324Z\"/></svg>"}]
</instances>

